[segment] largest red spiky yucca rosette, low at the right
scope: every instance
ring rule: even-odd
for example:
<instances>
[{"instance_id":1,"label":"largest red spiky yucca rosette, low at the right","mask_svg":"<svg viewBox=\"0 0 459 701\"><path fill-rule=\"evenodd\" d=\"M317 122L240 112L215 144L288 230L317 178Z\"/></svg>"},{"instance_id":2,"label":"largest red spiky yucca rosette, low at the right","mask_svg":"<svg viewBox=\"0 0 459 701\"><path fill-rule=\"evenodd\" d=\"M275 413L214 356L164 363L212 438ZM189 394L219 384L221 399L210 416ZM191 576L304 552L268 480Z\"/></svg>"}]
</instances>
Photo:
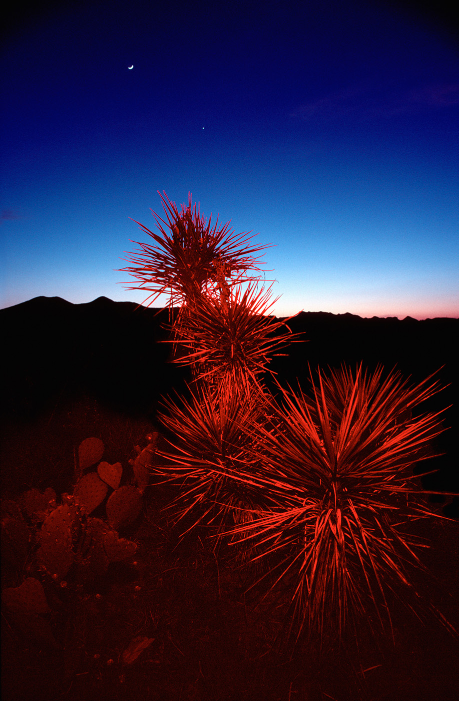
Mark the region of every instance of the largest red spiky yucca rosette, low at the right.
<instances>
[{"instance_id":1,"label":"largest red spiky yucca rosette, low at the right","mask_svg":"<svg viewBox=\"0 0 459 701\"><path fill-rule=\"evenodd\" d=\"M318 379L312 399L281 390L271 406L278 428L257 427L251 460L263 473L233 470L233 479L258 484L275 507L231 533L242 533L241 545L256 537L256 559L279 555L275 584L292 580L299 632L335 622L341 634L367 601L383 625L388 591L413 590L407 563L421 566L423 543L409 524L434 514L411 467L432 456L425 447L442 429L439 414L413 418L411 409L439 387L430 378L409 387L394 372L383 379L381 368Z\"/></svg>"}]
</instances>

